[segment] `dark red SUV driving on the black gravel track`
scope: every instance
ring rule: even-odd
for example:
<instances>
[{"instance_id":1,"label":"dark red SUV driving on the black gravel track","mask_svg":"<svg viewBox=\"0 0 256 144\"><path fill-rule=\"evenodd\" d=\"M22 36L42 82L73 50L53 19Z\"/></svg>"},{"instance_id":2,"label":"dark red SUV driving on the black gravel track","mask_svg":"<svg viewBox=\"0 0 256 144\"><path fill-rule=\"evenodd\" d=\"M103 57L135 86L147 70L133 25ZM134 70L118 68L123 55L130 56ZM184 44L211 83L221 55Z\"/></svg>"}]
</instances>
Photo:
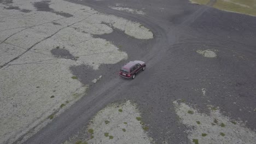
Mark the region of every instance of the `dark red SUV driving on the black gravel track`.
<instances>
[{"instance_id":1,"label":"dark red SUV driving on the black gravel track","mask_svg":"<svg viewBox=\"0 0 256 144\"><path fill-rule=\"evenodd\" d=\"M130 61L119 71L119 75L126 79L135 79L136 74L146 69L146 63L142 61Z\"/></svg>"}]
</instances>

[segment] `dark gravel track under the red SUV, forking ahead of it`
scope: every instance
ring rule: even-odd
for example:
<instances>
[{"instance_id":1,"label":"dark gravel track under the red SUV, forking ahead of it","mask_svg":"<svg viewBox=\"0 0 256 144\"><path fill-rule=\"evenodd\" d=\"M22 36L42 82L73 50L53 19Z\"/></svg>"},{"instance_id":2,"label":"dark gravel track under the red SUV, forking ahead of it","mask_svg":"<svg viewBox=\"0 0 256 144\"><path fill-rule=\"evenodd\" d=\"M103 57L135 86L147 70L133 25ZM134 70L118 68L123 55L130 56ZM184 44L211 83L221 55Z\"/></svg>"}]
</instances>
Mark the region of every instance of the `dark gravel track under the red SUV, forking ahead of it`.
<instances>
[{"instance_id":1,"label":"dark gravel track under the red SUV, forking ahead of it","mask_svg":"<svg viewBox=\"0 0 256 144\"><path fill-rule=\"evenodd\" d=\"M142 60L147 62L147 69L154 67L156 63L161 60L163 55L172 45L178 37L168 38L166 29L162 26L164 23L159 23L154 17L146 17L141 15L133 15L125 13L123 11L112 10L109 8L99 7L94 4L82 2L82 1L70 1L74 3L80 3L88 5L100 11L102 13L113 14L125 19L133 19L143 23L144 26L148 27L154 33L155 44L153 50L147 53ZM200 16L208 7L201 7L195 11L189 19L181 23L174 31L179 31L183 27L188 26L198 16ZM159 50L159 47L161 49ZM157 53L157 54L156 54ZM40 130L36 135L28 139L25 143L61 143L67 139L71 134L77 132L85 122L95 115L95 113L102 109L102 107L110 103L115 97L118 97L119 89L125 89L129 85L129 81L124 82L123 80L116 77L112 81L108 82L108 85L104 85L99 91L91 93L89 97L83 97L70 109L66 110L59 117L55 118L53 122L49 123L45 128ZM111 90L110 90L111 89ZM86 110L86 111L85 111ZM47 137L47 139L45 139Z\"/></svg>"}]
</instances>

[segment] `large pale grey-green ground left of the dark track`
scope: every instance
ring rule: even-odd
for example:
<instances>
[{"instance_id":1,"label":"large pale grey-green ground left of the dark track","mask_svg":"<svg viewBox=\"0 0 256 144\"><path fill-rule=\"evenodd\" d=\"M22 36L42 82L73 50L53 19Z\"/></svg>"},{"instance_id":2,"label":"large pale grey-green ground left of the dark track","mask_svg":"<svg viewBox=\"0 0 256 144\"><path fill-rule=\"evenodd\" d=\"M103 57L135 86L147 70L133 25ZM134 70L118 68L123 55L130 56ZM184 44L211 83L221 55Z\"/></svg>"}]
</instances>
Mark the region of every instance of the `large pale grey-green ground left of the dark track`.
<instances>
[{"instance_id":1,"label":"large pale grey-green ground left of the dark track","mask_svg":"<svg viewBox=\"0 0 256 144\"><path fill-rule=\"evenodd\" d=\"M70 67L97 70L127 59L111 41L94 35L117 28L137 39L153 38L140 23L65 1L1 1L0 7L0 143L14 142L85 95L97 77L82 83Z\"/></svg>"}]
</instances>

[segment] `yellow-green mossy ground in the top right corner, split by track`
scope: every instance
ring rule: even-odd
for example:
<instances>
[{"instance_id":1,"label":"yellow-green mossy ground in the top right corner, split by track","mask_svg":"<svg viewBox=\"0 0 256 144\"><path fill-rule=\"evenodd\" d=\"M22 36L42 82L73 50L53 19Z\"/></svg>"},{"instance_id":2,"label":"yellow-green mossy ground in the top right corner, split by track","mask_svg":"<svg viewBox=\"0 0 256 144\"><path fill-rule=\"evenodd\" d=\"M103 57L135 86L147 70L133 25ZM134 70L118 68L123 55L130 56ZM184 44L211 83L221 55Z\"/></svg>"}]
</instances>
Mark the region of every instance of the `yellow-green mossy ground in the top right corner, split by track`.
<instances>
[{"instance_id":1,"label":"yellow-green mossy ground in the top right corner, split by track","mask_svg":"<svg viewBox=\"0 0 256 144\"><path fill-rule=\"evenodd\" d=\"M209 0L190 0L191 3L207 4ZM256 1L255 0L217 0L212 7L231 11L234 13L241 13L256 16Z\"/></svg>"}]
</instances>

